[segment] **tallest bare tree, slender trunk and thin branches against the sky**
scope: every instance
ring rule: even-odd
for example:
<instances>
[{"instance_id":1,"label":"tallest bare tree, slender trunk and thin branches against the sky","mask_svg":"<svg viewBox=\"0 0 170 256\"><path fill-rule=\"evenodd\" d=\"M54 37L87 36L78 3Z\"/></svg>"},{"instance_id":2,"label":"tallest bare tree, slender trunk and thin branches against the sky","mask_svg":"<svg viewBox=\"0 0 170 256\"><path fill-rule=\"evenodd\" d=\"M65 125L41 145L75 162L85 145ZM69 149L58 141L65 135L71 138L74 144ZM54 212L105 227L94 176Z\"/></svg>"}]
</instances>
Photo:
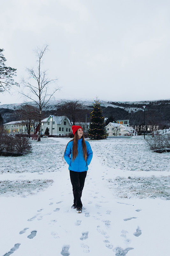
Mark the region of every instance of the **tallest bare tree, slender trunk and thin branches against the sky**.
<instances>
[{"instance_id":1,"label":"tallest bare tree, slender trunk and thin branches against the sky","mask_svg":"<svg viewBox=\"0 0 170 256\"><path fill-rule=\"evenodd\" d=\"M49 79L47 76L47 70L42 71L42 63L45 53L48 51L48 44L45 44L42 48L37 47L35 50L35 55L37 58L37 68L26 68L29 78L26 81L22 79L24 88L28 92L20 92L27 99L32 100L39 109L39 131L38 131L38 141L41 140L41 114L42 110L48 103L48 101L54 98L54 93L60 90L59 87L55 87L53 92L50 91L50 85L57 81L56 79Z\"/></svg>"}]
</instances>

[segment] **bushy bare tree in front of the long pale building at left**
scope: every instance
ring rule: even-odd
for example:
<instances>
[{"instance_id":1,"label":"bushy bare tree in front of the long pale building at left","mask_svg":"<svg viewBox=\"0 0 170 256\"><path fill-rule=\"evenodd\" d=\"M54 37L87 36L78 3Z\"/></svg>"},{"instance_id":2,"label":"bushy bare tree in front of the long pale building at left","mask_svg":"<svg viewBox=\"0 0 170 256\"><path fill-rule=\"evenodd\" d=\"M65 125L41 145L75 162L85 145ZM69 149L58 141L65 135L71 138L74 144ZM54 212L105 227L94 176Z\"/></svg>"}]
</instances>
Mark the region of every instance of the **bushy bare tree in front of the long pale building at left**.
<instances>
[{"instance_id":1,"label":"bushy bare tree in front of the long pale building at left","mask_svg":"<svg viewBox=\"0 0 170 256\"><path fill-rule=\"evenodd\" d=\"M18 110L16 110L16 112L17 112L17 118L22 120L23 125L26 125L27 132L30 138L32 127L35 133L35 128L39 123L39 120L38 120L39 109L33 105L25 104L25 105L22 105Z\"/></svg>"}]
</instances>

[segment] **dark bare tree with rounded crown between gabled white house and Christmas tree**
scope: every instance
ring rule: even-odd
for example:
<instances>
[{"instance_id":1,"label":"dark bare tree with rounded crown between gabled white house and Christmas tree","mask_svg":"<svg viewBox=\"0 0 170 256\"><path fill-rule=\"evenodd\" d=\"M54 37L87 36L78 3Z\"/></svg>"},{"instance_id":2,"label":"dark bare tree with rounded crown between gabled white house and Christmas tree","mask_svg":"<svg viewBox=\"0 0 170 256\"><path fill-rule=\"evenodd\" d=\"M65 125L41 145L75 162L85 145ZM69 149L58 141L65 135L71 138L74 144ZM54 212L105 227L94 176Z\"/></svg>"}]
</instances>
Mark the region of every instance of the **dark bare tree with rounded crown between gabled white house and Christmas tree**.
<instances>
[{"instance_id":1,"label":"dark bare tree with rounded crown between gabled white house and Christmas tree","mask_svg":"<svg viewBox=\"0 0 170 256\"><path fill-rule=\"evenodd\" d=\"M75 122L85 122L85 114L89 113L90 111L84 108L79 100L62 100L57 109L57 114L67 116L72 125L75 125Z\"/></svg>"}]
</instances>

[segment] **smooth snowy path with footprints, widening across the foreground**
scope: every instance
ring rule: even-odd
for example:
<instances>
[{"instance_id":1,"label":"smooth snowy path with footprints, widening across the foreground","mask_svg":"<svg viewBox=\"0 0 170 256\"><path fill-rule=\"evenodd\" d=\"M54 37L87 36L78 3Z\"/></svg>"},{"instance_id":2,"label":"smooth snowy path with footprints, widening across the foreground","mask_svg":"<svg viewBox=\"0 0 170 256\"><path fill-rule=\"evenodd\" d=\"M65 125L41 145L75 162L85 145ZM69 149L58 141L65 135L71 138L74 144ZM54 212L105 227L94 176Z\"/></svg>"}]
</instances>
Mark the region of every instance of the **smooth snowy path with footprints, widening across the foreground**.
<instances>
[{"instance_id":1,"label":"smooth snowy path with footprints, widening across the foreground","mask_svg":"<svg viewBox=\"0 0 170 256\"><path fill-rule=\"evenodd\" d=\"M108 172L94 153L81 214L71 209L68 166L43 173L42 179L49 176L54 182L37 195L1 198L0 255L168 255L168 202L114 199L107 187Z\"/></svg>"}]
</instances>

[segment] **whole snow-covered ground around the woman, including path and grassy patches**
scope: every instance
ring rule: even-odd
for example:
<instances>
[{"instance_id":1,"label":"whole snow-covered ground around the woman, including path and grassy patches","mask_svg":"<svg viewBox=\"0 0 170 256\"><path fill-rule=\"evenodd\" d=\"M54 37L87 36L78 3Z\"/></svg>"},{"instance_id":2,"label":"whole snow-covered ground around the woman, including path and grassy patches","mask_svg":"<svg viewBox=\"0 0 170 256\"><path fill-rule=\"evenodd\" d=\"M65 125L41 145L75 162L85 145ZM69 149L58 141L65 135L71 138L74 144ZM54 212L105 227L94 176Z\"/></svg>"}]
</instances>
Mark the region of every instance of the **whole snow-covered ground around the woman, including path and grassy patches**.
<instances>
[{"instance_id":1,"label":"whole snow-covered ground around the woman, including path and grassy patches","mask_svg":"<svg viewBox=\"0 0 170 256\"><path fill-rule=\"evenodd\" d=\"M0 156L0 256L169 255L169 153L150 151L142 136L89 140L78 214L62 159L70 140L42 138L29 155Z\"/></svg>"}]
</instances>

